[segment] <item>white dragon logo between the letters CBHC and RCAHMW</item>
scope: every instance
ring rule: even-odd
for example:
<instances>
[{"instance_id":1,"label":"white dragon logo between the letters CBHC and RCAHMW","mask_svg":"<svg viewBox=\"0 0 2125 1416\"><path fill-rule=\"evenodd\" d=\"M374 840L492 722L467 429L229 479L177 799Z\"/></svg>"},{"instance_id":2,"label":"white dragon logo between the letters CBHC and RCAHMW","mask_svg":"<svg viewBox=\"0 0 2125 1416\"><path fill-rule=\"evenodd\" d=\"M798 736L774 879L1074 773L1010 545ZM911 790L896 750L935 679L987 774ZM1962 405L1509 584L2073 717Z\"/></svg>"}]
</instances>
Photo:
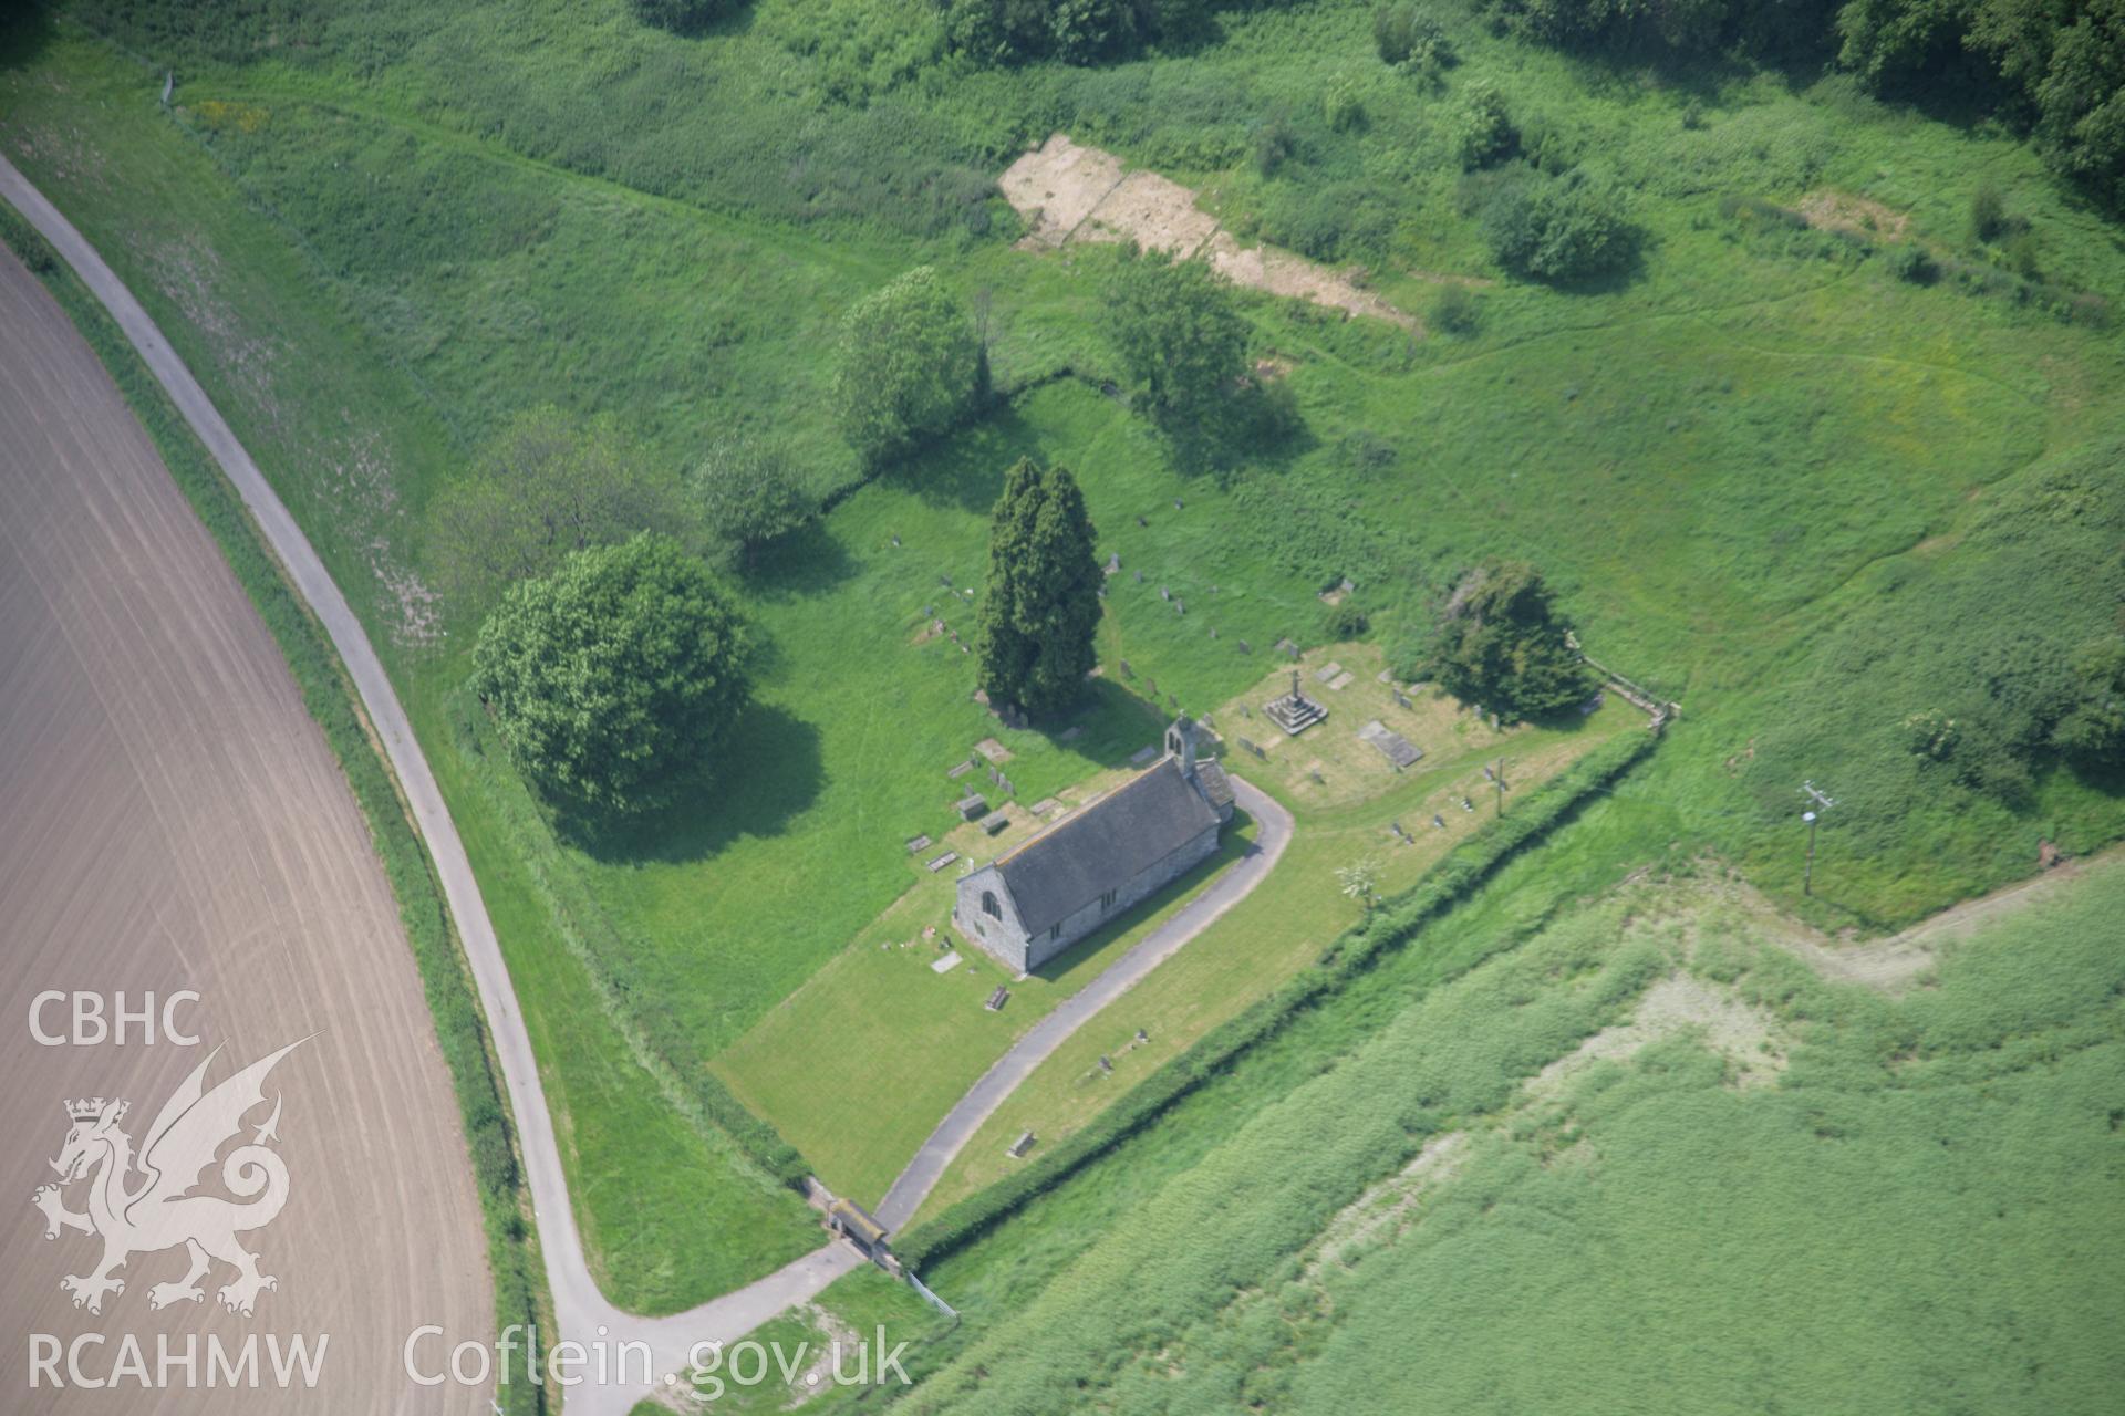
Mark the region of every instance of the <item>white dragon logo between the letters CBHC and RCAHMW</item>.
<instances>
[{"instance_id":1,"label":"white dragon logo between the letters CBHC and RCAHMW","mask_svg":"<svg viewBox=\"0 0 2125 1416\"><path fill-rule=\"evenodd\" d=\"M259 1289L278 1287L278 1280L259 1274L257 1255L236 1242L238 1229L264 1229L287 1204L287 1163L266 1149L268 1140L278 1140L278 1095L274 1095L272 1115L255 1127L251 1144L236 1146L221 1161L221 1182L234 1195L244 1197L244 1204L189 1191L215 1163L215 1153L242 1132L244 1112L266 1102L266 1074L302 1042L308 1038L289 1042L202 1093L206 1068L221 1055L221 1049L208 1053L206 1061L193 1068L191 1076L155 1115L155 1123L147 1129L147 1142L140 1146L138 1165L132 1136L119 1129L130 1102L91 1098L66 1104L66 1115L74 1125L66 1134L60 1159L51 1161L51 1168L60 1172L60 1182L40 1185L30 1199L45 1212L47 1240L60 1238L62 1229L79 1229L104 1240L104 1259L94 1272L68 1274L60 1280L60 1287L74 1295L74 1308L102 1312L106 1293L125 1291L125 1280L113 1274L132 1255L176 1248L178 1244L191 1255L191 1270L176 1282L159 1282L149 1289L149 1308L202 1301L206 1295L200 1289L200 1278L206 1276L210 1259L221 1259L236 1270L236 1278L221 1289L221 1303L232 1312L251 1316ZM142 1178L138 1185L130 1185L136 1168ZM76 1214L66 1208L62 1189L83 1178L89 1182L89 1206L85 1214Z\"/></svg>"}]
</instances>

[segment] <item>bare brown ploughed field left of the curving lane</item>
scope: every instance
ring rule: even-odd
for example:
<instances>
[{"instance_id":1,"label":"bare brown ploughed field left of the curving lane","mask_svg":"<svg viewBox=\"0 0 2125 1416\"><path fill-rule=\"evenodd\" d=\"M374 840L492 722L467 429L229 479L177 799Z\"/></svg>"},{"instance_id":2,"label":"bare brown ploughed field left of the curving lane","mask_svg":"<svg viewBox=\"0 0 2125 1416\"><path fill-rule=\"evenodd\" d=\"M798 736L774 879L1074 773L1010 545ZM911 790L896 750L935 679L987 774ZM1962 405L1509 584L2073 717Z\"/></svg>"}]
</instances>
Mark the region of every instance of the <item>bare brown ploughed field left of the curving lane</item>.
<instances>
[{"instance_id":1,"label":"bare brown ploughed field left of the curving lane","mask_svg":"<svg viewBox=\"0 0 2125 1416\"><path fill-rule=\"evenodd\" d=\"M421 1325L450 1342L493 1337L472 1170L450 1081L368 828L272 637L193 518L147 433L62 310L0 251L0 1410L8 1412L487 1412L489 1391L421 1388L402 1348ZM138 1023L119 1047L40 1044L47 989L138 1006L193 989L176 1013L196 1047ZM70 1030L70 1008L40 1013ZM312 1036L314 1034L314 1036ZM70 1098L125 1098L138 1146L166 1098L206 1059L212 1085L308 1038L264 1083L242 1142L280 1100L270 1146L289 1174L285 1210L238 1231L278 1280L244 1318L219 1301L151 1310L183 1280L183 1244L136 1253L102 1312L60 1280L91 1274L102 1242L45 1238L32 1206L57 1182ZM221 1146L227 1155L238 1144ZM140 1185L134 1174L130 1187ZM87 1208L94 1180L64 1187ZM221 1165L200 1193L230 1195ZM257 1388L30 1388L36 1335L83 1348L108 1378L123 1335L149 1371L157 1337L198 1335L238 1357L257 1335L329 1335L314 1393ZM438 1365L444 1344L423 1359ZM66 1376L62 1361L60 1374Z\"/></svg>"}]
</instances>

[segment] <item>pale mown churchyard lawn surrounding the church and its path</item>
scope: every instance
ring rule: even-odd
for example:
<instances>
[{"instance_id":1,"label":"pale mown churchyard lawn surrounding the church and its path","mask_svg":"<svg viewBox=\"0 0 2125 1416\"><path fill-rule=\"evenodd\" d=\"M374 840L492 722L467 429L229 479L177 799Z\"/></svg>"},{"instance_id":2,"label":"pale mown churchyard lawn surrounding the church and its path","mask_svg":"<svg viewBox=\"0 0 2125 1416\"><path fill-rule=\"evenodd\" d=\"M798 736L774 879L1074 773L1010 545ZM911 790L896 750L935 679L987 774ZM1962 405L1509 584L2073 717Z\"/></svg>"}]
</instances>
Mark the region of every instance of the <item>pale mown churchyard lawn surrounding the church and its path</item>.
<instances>
[{"instance_id":1,"label":"pale mown churchyard lawn surrounding the church and its path","mask_svg":"<svg viewBox=\"0 0 2125 1416\"><path fill-rule=\"evenodd\" d=\"M1343 894L1341 868L1368 862L1379 896L1415 883L1498 811L1492 777L1498 760L1507 764L1504 807L1511 809L1517 792L1549 779L1611 735L1643 732L1647 724L1611 694L1587 715L1496 730L1436 690L1383 681L1388 671L1375 645L1343 643L1303 652L1296 660L1266 658L1284 667L1220 703L1209 720L1222 739L1218 752L1226 771L1269 792L1296 819L1273 887L1241 900L1065 1042L982 1127L924 1212L1005 1174L1018 1163L1007 1146L1022 1132L1060 1140L1311 962L1364 909ZM1288 690L1292 669L1330 709L1326 722L1298 737L1286 737L1262 715L1262 705ZM1334 671L1322 679L1326 669ZM1122 677L1118 662L1101 671L1105 679ZM1130 677L1152 692L1143 675L1130 671ZM1148 707L1139 709L1135 722L1152 739L1156 722ZM1373 722L1407 735L1424 749L1422 760L1396 769L1358 737ZM1012 779L1018 756L997 737L982 741L990 752L969 749L937 773L939 785L954 798L982 792L990 805L1005 802L1009 826L988 834L980 819L956 822L910 849L905 894L712 1061L740 1100L803 1151L829 1189L865 1202L884 1193L937 1119L1014 1038L1179 911L1254 839L1252 824L1237 815L1220 853L1177 885L1031 977L1012 979L952 930L954 879L1105 794L1141 764L1128 760L1094 771L1031 802L1046 807L1035 813L1005 798L990 777L994 769ZM1241 743L1256 743L1260 756ZM1130 758L1145 752L1150 741ZM944 858L952 858L948 866L929 868ZM939 970L944 960L952 964ZM1009 1000L990 1011L984 1004L997 987L1005 987ZM803 1066L790 1066L793 1057Z\"/></svg>"}]
</instances>

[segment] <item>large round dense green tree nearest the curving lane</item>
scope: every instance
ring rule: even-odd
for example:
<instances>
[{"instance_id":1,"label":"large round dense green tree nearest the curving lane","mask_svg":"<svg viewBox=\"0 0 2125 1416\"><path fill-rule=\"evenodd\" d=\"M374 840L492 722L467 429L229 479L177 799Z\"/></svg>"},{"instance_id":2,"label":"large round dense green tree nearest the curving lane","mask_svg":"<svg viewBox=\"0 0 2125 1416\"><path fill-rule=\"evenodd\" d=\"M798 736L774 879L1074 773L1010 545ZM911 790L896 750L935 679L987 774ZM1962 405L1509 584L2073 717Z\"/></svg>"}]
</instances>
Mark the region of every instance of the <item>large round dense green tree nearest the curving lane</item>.
<instances>
[{"instance_id":1,"label":"large round dense green tree nearest the curving lane","mask_svg":"<svg viewBox=\"0 0 2125 1416\"><path fill-rule=\"evenodd\" d=\"M472 686L529 781L625 815L714 775L750 696L746 658L744 618L708 567L638 535L516 584L480 628Z\"/></svg>"}]
</instances>

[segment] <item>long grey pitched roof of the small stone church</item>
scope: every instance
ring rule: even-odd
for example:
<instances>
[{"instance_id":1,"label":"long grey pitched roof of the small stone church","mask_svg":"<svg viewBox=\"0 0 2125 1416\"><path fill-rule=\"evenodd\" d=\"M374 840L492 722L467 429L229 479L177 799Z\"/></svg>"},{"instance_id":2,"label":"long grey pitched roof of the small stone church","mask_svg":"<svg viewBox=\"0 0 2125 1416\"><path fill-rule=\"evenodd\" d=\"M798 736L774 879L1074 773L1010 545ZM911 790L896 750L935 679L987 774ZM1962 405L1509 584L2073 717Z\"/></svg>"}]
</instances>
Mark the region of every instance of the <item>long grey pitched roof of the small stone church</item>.
<instances>
[{"instance_id":1,"label":"long grey pitched roof of the small stone church","mask_svg":"<svg viewBox=\"0 0 2125 1416\"><path fill-rule=\"evenodd\" d=\"M1018 904L1020 926L1039 934L1216 826L1218 813L1182 764L1160 758L1084 811L1001 856L997 870Z\"/></svg>"}]
</instances>

